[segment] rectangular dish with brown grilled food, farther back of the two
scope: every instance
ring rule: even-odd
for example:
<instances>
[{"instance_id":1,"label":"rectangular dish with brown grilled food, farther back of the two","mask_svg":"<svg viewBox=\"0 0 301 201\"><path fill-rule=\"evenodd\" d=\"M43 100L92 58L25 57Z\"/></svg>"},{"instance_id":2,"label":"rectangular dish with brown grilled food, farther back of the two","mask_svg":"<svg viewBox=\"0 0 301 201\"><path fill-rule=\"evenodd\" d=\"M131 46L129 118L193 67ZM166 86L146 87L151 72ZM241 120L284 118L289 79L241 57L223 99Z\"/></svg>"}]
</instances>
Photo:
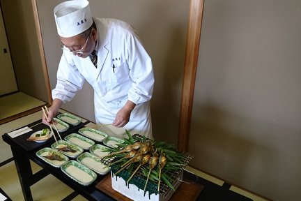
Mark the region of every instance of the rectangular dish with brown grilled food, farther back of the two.
<instances>
[{"instance_id":1,"label":"rectangular dish with brown grilled food, farther back of the two","mask_svg":"<svg viewBox=\"0 0 301 201\"><path fill-rule=\"evenodd\" d=\"M61 152L61 154L65 154L70 158L75 158L84 152L84 149L81 147L76 146L70 142L65 140L59 140L58 142L54 142L51 145L52 149L56 149L57 151Z\"/></svg>"}]
</instances>

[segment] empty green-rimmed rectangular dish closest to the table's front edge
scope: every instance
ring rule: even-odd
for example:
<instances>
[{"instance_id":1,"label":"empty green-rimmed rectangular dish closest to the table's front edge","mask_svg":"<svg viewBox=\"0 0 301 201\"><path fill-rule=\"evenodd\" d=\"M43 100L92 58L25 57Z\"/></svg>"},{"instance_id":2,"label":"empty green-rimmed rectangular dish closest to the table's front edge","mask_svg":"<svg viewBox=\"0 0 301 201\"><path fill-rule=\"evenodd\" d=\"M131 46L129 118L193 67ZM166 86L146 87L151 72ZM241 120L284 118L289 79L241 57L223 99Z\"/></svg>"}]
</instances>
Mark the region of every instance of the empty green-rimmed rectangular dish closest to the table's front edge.
<instances>
[{"instance_id":1,"label":"empty green-rimmed rectangular dish closest to the table's front edge","mask_svg":"<svg viewBox=\"0 0 301 201\"><path fill-rule=\"evenodd\" d=\"M61 166L61 170L68 175L71 179L84 186L88 186L95 181L97 174L87 168L82 163L70 160Z\"/></svg>"}]
</instances>

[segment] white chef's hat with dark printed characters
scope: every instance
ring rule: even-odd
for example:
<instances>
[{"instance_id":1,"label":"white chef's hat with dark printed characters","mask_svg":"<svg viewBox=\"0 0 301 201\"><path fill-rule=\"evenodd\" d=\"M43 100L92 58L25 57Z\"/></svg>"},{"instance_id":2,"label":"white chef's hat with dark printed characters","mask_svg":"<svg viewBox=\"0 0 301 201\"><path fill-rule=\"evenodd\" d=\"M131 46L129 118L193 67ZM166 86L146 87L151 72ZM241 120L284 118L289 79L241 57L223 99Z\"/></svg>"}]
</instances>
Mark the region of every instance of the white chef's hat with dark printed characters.
<instances>
[{"instance_id":1,"label":"white chef's hat with dark printed characters","mask_svg":"<svg viewBox=\"0 0 301 201\"><path fill-rule=\"evenodd\" d=\"M76 36L93 24L90 6L86 0L73 0L60 3L54 8L54 19L59 36Z\"/></svg>"}]
</instances>

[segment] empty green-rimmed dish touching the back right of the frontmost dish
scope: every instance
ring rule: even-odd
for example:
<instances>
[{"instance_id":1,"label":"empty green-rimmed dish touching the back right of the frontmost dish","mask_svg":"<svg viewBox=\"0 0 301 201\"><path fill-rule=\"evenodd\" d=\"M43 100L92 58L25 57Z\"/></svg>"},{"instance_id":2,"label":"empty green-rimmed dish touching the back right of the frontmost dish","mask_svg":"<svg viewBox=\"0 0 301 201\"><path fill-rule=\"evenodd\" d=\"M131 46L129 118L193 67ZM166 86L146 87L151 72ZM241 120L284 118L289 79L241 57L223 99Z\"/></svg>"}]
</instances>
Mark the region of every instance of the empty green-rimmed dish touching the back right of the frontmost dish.
<instances>
[{"instance_id":1,"label":"empty green-rimmed dish touching the back right of the frontmost dish","mask_svg":"<svg viewBox=\"0 0 301 201\"><path fill-rule=\"evenodd\" d=\"M91 170L95 171L98 174L107 174L111 168L109 166L103 164L101 159L92 155L89 152L85 152L77 157L77 161L82 163L86 167L90 168Z\"/></svg>"}]
</instances>

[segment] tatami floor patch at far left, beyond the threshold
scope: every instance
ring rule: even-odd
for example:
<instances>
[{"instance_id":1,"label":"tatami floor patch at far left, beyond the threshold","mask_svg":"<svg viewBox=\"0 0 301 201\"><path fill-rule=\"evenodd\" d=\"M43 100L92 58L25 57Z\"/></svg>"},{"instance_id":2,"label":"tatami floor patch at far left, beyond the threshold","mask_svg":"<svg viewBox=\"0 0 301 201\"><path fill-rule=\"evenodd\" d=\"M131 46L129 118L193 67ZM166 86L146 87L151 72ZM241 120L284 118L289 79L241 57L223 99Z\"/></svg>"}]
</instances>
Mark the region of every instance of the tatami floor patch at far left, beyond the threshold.
<instances>
[{"instance_id":1,"label":"tatami floor patch at far left, beyond the threshold","mask_svg":"<svg viewBox=\"0 0 301 201\"><path fill-rule=\"evenodd\" d=\"M0 120L45 105L45 102L22 92L0 98Z\"/></svg>"}]
</instances>

